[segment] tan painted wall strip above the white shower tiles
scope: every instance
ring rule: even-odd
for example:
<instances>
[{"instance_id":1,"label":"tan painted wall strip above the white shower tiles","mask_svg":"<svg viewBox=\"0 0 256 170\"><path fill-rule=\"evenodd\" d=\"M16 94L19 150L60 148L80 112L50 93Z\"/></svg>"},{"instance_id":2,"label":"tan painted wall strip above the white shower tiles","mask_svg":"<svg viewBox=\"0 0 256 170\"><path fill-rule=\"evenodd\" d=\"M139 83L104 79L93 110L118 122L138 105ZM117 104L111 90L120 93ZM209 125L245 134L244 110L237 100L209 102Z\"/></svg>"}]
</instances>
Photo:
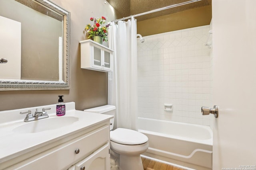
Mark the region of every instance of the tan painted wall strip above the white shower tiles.
<instances>
[{"instance_id":1,"label":"tan painted wall strip above the white shower tiles","mask_svg":"<svg viewBox=\"0 0 256 170\"><path fill-rule=\"evenodd\" d=\"M165 16L137 22L137 33L142 36L176 31L180 29L209 25L212 19L212 6L185 10Z\"/></svg>"}]
</instances>

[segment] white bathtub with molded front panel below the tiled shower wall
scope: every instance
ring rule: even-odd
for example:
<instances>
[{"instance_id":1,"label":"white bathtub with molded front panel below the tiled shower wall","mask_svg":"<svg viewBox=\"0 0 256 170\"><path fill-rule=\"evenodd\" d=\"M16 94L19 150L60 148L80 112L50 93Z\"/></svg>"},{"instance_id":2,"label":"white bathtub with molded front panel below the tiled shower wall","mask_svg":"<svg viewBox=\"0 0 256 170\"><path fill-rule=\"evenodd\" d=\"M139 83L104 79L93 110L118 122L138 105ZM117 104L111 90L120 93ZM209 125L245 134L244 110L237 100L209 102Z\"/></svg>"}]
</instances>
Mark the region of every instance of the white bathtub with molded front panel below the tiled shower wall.
<instances>
[{"instance_id":1,"label":"white bathtub with molded front panel below the tiled shower wall","mask_svg":"<svg viewBox=\"0 0 256 170\"><path fill-rule=\"evenodd\" d=\"M142 155L197 170L212 169L210 127L139 117L138 131L149 141Z\"/></svg>"}]
</instances>

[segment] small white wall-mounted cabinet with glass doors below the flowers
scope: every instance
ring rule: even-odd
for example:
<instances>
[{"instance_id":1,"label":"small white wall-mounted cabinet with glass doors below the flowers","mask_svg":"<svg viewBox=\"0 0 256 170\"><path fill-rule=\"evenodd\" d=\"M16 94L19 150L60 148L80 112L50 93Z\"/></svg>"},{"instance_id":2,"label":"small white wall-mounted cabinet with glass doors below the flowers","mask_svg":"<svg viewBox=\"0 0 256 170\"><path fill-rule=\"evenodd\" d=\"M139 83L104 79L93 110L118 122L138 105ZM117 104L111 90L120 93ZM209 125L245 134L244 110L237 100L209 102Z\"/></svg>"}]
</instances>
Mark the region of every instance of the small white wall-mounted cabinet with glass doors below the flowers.
<instances>
[{"instance_id":1,"label":"small white wall-mounted cabinet with glass doors below the flowers","mask_svg":"<svg viewBox=\"0 0 256 170\"><path fill-rule=\"evenodd\" d=\"M80 41L81 68L112 71L114 51L90 39Z\"/></svg>"}]
</instances>

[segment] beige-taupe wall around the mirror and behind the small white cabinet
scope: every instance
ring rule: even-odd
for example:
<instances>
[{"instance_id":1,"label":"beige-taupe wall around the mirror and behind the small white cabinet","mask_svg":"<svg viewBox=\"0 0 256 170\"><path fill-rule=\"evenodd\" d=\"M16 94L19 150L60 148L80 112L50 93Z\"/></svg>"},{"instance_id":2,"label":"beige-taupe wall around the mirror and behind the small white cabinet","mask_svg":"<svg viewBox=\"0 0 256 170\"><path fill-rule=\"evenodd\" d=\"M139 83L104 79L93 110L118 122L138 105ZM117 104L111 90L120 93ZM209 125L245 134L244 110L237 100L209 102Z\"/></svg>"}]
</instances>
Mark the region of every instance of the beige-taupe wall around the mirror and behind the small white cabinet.
<instances>
[{"instance_id":1,"label":"beige-taupe wall around the mirror and behind the small white cabinet","mask_svg":"<svg viewBox=\"0 0 256 170\"><path fill-rule=\"evenodd\" d=\"M71 89L70 90L28 90L0 91L0 110L42 106L58 102L58 95L64 95L64 102L76 102L76 109L107 104L107 73L80 68L79 41L86 39L84 27L91 23L90 17L106 16L114 20L114 11L104 0L52 0L71 14ZM18 113L17 113L18 114Z\"/></svg>"}]
</instances>

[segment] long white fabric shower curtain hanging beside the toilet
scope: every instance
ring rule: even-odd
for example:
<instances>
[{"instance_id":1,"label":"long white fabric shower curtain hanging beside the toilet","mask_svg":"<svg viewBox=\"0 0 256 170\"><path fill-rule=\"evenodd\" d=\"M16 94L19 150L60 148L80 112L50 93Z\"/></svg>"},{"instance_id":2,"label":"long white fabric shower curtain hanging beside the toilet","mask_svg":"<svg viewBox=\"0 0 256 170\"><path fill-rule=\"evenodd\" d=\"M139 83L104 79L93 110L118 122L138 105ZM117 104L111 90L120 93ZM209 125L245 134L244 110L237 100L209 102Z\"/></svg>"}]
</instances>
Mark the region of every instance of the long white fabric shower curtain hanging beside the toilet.
<instances>
[{"instance_id":1,"label":"long white fabric shower curtain hanging beside the toilet","mask_svg":"<svg viewBox=\"0 0 256 170\"><path fill-rule=\"evenodd\" d=\"M114 69L108 72L108 104L116 106L114 128L138 130L137 23L113 21L109 47L114 50Z\"/></svg>"}]
</instances>

